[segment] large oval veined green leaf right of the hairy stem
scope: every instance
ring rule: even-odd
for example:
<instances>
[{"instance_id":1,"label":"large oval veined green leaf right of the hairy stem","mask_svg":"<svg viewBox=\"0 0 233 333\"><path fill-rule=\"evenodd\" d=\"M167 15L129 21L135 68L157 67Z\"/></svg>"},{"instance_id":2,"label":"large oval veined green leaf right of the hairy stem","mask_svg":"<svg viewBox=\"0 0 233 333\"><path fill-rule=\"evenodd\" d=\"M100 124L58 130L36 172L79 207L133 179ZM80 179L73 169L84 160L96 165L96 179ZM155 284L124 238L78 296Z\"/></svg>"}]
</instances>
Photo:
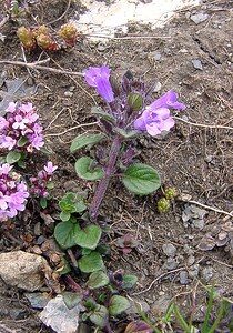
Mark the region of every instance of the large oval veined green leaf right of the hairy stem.
<instances>
[{"instance_id":1,"label":"large oval veined green leaf right of the hairy stem","mask_svg":"<svg viewBox=\"0 0 233 333\"><path fill-rule=\"evenodd\" d=\"M135 163L124 170L124 186L138 195L155 192L161 186L161 179L155 169L142 163Z\"/></svg>"}]
</instances>

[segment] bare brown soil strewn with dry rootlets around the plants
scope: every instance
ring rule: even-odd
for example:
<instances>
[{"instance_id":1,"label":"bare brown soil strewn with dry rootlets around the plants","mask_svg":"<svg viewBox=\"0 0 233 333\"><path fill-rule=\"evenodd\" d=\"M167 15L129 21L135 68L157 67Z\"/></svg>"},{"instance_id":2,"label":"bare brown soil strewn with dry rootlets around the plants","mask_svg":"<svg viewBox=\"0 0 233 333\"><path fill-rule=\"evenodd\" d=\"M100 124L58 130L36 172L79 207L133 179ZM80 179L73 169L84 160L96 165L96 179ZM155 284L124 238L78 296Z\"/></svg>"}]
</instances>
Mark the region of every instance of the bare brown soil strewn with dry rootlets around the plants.
<instances>
[{"instance_id":1,"label":"bare brown soil strewn with dry rootlets around the plants","mask_svg":"<svg viewBox=\"0 0 233 333\"><path fill-rule=\"evenodd\" d=\"M175 186L180 193L190 194L194 201L231 212L233 211L232 129L216 125L233 124L232 8L231 1L204 2L202 7L192 8L190 11L189 9L179 11L175 19L163 29L152 31L150 27L136 24L130 27L128 37L151 36L151 39L119 38L110 40L102 50L98 44L81 38L73 50L49 54L51 58L49 65L82 72L89 67L107 63L115 77L121 78L130 69L146 82L160 82L162 88L159 93L154 93L154 99L170 89L175 90L180 100L186 104L184 111L173 113L181 120L176 120L175 129L163 140L146 137L136 142L142 151L140 159L160 171L164 186ZM37 13L40 22L47 23L59 18L65 10L65 1L52 1L52 4L47 1L39 3L29 7L29 13L24 18L28 26L34 24L33 13ZM83 10L71 3L64 21L55 22L52 28L71 18L74 8L80 12ZM190 16L201 11L209 13L209 18L195 24ZM20 43L14 33L17 27L17 22L8 21L0 28L7 36L4 42L0 41L0 60L23 61ZM155 53L161 54L159 61L154 60ZM37 61L39 56L42 59L48 57L44 53L31 52L27 54L27 60ZM202 70L193 67L192 60L195 59L201 60ZM24 68L16 65L1 64L0 71L7 71L9 79L28 77ZM79 77L36 70L31 70L31 73L37 92L30 101L41 117L48 144L53 152L51 158L59 165L54 190L54 199L59 200L65 192L64 184L70 180L73 180L78 188L87 188L87 183L74 173L73 164L77 155L70 155L69 144L79 133L99 130L95 124L88 125L88 123L94 122L90 115L93 99L98 103L102 101ZM65 91L72 91L73 95L65 97ZM77 125L80 127L70 130ZM40 169L41 162L37 161L43 159L40 154L36 155L33 168ZM90 200L94 188L94 183L88 184ZM109 265L113 270L124 268L126 273L139 276L140 283L134 293L138 293L139 300L145 300L150 304L152 316L158 315L156 304L160 300L164 297L171 300L175 296L179 296L181 306L190 304L199 314L203 306L204 293L195 279L189 278L189 283L182 285L180 272L190 270L188 259L193 255L194 264L199 264L201 274L197 279L202 280L205 268L212 268L215 286L222 290L223 295L232 296L232 248L215 246L209 252L197 249L201 239L207 232L214 228L221 230L226 222L224 220L226 215L207 210L203 230L185 226L181 219L184 202L176 200L168 213L160 214L156 211L156 201L161 195L159 192L148 198L132 196L119 181L112 181L101 211L114 224L113 239L131 232L140 241L140 246L132 253L122 255L113 245ZM232 219L229 221L232 222ZM22 240L27 232L33 234L36 222L33 219L30 225L18 222L12 234L20 240L19 244L9 234L4 234L0 250L27 249ZM44 232L48 236L49 232ZM168 258L163 252L163 245L166 243L172 243L176 248L176 265L170 271L164 266ZM206 284L205 281L203 283ZM37 312L30 309L22 292L2 286L0 303L4 304L0 311L0 323L19 332L50 332L41 325ZM20 312L20 317L13 313L17 307L24 309L24 312ZM1 332L7 331L2 329Z\"/></svg>"}]
</instances>

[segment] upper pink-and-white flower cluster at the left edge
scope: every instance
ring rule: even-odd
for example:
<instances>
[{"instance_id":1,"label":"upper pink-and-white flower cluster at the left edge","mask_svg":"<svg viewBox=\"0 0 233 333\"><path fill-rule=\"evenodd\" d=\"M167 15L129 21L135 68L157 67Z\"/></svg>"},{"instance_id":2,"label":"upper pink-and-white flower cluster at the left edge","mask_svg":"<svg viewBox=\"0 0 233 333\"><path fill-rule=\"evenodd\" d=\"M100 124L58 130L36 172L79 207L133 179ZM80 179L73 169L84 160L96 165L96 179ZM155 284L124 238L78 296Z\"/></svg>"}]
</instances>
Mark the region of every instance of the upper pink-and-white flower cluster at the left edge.
<instances>
[{"instance_id":1,"label":"upper pink-and-white flower cluster at the left edge","mask_svg":"<svg viewBox=\"0 0 233 333\"><path fill-rule=\"evenodd\" d=\"M42 127L31 103L17 107L9 103L7 117L0 117L0 148L18 152L32 152L43 147Z\"/></svg>"}]
</instances>

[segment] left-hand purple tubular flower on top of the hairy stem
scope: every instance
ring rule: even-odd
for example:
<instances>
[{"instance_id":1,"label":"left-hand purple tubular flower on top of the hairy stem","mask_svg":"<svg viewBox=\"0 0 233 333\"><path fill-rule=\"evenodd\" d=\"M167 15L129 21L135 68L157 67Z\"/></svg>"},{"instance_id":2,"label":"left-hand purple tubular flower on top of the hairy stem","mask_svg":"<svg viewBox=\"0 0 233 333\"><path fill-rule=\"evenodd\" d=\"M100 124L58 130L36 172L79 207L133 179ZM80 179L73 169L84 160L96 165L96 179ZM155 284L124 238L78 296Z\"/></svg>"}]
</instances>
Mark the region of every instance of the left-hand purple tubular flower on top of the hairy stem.
<instances>
[{"instance_id":1,"label":"left-hand purple tubular flower on top of the hairy stem","mask_svg":"<svg viewBox=\"0 0 233 333\"><path fill-rule=\"evenodd\" d=\"M114 100L112 85L109 81L110 69L108 67L93 67L85 72L85 82L97 88L99 94L108 102Z\"/></svg>"}]
</instances>

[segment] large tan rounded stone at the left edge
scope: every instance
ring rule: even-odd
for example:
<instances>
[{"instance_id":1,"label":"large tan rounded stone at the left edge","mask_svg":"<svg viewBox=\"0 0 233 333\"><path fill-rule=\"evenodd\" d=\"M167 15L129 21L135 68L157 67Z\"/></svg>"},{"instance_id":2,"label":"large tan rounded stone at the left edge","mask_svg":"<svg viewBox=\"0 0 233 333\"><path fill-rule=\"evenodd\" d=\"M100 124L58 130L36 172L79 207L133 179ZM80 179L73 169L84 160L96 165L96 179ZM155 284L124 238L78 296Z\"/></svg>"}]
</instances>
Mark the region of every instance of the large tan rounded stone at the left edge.
<instances>
[{"instance_id":1,"label":"large tan rounded stone at the left edge","mask_svg":"<svg viewBox=\"0 0 233 333\"><path fill-rule=\"evenodd\" d=\"M31 292L40 289L44 284L44 268L49 265L45 259L38 254L23 251L0 254L0 278L10 286Z\"/></svg>"}]
</instances>

